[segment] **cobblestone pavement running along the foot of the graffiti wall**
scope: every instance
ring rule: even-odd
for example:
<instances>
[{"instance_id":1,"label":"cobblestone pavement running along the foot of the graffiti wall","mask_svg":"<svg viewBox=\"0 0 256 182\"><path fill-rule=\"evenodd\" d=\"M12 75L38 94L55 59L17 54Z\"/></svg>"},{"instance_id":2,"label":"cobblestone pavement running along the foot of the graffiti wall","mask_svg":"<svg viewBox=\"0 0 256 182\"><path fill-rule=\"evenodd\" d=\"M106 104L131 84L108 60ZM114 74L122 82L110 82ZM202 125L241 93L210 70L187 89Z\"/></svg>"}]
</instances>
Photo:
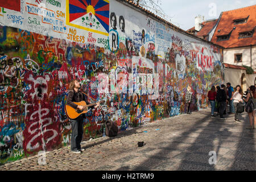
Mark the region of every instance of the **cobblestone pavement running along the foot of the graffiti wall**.
<instances>
[{"instance_id":1,"label":"cobblestone pavement running along the foot of the graffiti wall","mask_svg":"<svg viewBox=\"0 0 256 182\"><path fill-rule=\"evenodd\" d=\"M242 122L210 118L210 109L149 123L118 134L81 143L85 151L74 154L69 147L0 166L0 170L255 170L256 132L249 126L247 113ZM138 141L144 141L138 147ZM209 164L210 151L217 163Z\"/></svg>"}]
</instances>

